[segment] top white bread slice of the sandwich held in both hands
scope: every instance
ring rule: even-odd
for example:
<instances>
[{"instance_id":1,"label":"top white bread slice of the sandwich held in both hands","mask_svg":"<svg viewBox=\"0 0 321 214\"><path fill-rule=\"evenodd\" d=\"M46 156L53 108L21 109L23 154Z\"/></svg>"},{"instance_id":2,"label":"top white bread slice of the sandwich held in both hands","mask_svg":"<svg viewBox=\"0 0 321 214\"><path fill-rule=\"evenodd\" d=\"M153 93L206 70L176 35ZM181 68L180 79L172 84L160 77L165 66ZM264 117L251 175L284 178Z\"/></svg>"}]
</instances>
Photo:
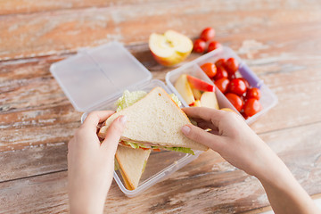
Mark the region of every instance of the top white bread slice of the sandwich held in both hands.
<instances>
[{"instance_id":1,"label":"top white bread slice of the sandwich held in both hands","mask_svg":"<svg viewBox=\"0 0 321 214\"><path fill-rule=\"evenodd\" d=\"M201 151L208 149L183 135L181 128L191 124L191 121L161 87L153 88L143 99L111 115L98 136L104 138L107 128L119 115L127 116L126 128L120 140Z\"/></svg>"}]
</instances>

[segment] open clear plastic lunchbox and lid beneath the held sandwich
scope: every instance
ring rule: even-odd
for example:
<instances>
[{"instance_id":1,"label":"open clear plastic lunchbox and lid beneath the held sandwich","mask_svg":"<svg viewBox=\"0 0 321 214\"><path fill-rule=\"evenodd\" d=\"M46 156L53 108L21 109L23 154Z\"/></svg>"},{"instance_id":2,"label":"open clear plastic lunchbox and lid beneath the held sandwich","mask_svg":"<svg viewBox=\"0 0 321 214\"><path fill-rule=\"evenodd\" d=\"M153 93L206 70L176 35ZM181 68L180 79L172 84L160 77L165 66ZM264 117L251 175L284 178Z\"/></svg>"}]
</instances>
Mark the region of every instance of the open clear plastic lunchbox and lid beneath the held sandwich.
<instances>
[{"instance_id":1,"label":"open clear plastic lunchbox and lid beneath the held sandwich","mask_svg":"<svg viewBox=\"0 0 321 214\"><path fill-rule=\"evenodd\" d=\"M149 92L153 87L161 86L169 94L173 93L162 81L152 79L151 72L123 45L116 42L83 49L75 56L54 63L50 71L75 109L85 112L82 121L87 112L115 110L114 103L126 89ZM200 153L202 152L196 151L195 155L170 151L151 152L135 190L126 189L119 171L114 172L114 179L123 193L133 197L181 169Z\"/></svg>"}]
</instances>

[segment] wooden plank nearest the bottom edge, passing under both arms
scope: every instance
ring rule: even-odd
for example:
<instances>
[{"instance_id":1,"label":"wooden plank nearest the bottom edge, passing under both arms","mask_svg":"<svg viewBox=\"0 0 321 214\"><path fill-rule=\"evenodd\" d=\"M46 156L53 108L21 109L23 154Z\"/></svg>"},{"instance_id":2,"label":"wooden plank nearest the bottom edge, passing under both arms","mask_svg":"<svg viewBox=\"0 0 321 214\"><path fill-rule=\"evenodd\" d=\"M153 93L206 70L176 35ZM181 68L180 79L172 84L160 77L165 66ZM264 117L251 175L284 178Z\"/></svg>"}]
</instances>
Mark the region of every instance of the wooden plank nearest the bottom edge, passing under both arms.
<instances>
[{"instance_id":1,"label":"wooden plank nearest the bottom edge, passing under both arms","mask_svg":"<svg viewBox=\"0 0 321 214\"><path fill-rule=\"evenodd\" d=\"M278 153L309 194L320 193L321 123L260 135ZM292 136L289 138L289 136ZM3 213L68 211L67 172L0 183ZM148 197L146 197L148 196ZM268 205L259 181L204 152L168 179L135 198L127 198L113 183L105 202L108 213L240 213Z\"/></svg>"}]
</instances>

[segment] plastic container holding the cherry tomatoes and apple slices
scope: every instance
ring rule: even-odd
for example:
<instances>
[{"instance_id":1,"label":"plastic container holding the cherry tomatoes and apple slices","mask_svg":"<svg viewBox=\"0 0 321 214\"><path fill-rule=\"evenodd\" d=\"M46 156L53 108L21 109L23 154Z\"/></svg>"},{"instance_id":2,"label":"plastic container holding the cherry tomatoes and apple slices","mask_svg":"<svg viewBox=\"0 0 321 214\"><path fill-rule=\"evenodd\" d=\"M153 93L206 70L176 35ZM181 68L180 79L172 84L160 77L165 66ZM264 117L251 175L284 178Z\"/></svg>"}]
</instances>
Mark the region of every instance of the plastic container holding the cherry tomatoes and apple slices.
<instances>
[{"instance_id":1,"label":"plastic container holding the cherry tomatoes and apple slices","mask_svg":"<svg viewBox=\"0 0 321 214\"><path fill-rule=\"evenodd\" d=\"M249 84L253 87L258 87L261 92L261 97L259 99L259 103L262 105L262 110L250 117L249 119L246 119L246 122L248 124L254 122L256 119L258 119L261 115L268 112L271 108L273 108L277 103L277 97L276 95L263 83L262 79L259 79L258 76L243 62L240 57L232 51L232 49L223 46L220 47L210 53L206 53L202 55L201 57L193 60L192 62L188 62L182 67L177 68L176 70L172 70L166 75L166 83L168 84L169 88L178 94L177 90L174 87L174 84L177 80L177 78L181 74L190 74L196 78L202 78L202 80L205 80L206 82L213 84L213 82L210 80L210 78L202 71L201 65L205 62L217 62L221 58L228 59L230 57L234 57L237 62L239 62L239 71L243 78L245 78ZM223 95L218 88L216 88L216 95L218 98L218 105L219 108L231 108L235 110L234 106L232 106L231 103L226 99L226 96ZM179 98L182 97L179 96ZM185 105L187 103L182 102ZM236 110L235 110L236 111ZM237 111L236 111L237 112Z\"/></svg>"}]
</instances>

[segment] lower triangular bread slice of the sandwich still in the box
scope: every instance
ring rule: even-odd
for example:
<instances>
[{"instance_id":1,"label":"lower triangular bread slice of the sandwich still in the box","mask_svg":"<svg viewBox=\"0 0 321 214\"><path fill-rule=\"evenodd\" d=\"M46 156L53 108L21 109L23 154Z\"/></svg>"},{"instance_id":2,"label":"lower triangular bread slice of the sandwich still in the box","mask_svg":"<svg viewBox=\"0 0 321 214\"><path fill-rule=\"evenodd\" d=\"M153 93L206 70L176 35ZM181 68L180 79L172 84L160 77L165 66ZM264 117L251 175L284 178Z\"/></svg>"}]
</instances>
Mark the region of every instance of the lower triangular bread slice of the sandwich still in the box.
<instances>
[{"instance_id":1,"label":"lower triangular bread slice of the sandwich still in the box","mask_svg":"<svg viewBox=\"0 0 321 214\"><path fill-rule=\"evenodd\" d=\"M150 153L151 150L133 149L122 145L117 148L115 157L128 190L137 188Z\"/></svg>"}]
</instances>

